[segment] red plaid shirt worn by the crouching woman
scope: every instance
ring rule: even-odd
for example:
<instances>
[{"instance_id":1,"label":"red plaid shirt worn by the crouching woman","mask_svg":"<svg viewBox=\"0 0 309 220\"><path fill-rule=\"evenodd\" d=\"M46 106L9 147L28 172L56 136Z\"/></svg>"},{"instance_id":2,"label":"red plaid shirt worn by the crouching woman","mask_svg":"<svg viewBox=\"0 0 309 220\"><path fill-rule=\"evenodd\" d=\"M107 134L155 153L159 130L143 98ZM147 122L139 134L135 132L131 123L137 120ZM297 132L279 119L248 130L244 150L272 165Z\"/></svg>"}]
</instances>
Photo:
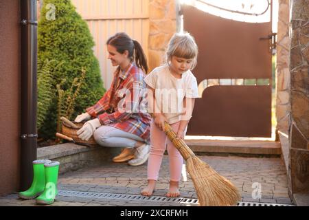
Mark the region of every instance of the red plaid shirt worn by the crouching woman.
<instances>
[{"instance_id":1,"label":"red plaid shirt worn by the crouching woman","mask_svg":"<svg viewBox=\"0 0 309 220\"><path fill-rule=\"evenodd\" d=\"M146 75L134 63L114 72L111 88L87 112L101 124L113 126L150 140L151 116L147 112Z\"/></svg>"}]
</instances>

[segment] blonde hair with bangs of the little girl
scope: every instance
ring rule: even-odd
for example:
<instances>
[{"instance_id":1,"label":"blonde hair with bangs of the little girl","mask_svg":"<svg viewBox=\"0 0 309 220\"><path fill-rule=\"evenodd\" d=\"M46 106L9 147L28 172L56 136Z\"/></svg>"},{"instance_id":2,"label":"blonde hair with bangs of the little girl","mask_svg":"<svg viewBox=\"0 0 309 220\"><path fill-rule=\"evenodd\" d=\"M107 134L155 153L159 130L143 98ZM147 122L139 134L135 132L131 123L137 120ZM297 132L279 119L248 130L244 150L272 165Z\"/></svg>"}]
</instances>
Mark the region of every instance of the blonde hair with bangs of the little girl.
<instances>
[{"instance_id":1,"label":"blonde hair with bangs of the little girl","mask_svg":"<svg viewBox=\"0 0 309 220\"><path fill-rule=\"evenodd\" d=\"M197 63L198 47L194 41L194 37L185 33L176 33L168 43L166 50L166 62L168 63L172 56L178 56L185 59L193 59L191 70L194 69Z\"/></svg>"}]
</instances>

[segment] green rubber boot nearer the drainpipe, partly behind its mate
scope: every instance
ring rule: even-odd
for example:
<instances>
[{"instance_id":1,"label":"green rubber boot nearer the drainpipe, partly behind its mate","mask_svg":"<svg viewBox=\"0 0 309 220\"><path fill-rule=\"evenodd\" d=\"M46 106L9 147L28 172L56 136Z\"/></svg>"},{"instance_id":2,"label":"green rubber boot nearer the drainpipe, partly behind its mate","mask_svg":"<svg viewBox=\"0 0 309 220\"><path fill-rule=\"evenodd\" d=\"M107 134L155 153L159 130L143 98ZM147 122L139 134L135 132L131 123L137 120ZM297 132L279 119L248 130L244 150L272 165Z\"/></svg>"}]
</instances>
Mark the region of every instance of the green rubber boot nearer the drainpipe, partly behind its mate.
<instances>
[{"instance_id":1,"label":"green rubber boot nearer the drainpipe, partly behind its mate","mask_svg":"<svg viewBox=\"0 0 309 220\"><path fill-rule=\"evenodd\" d=\"M21 199L34 199L40 195L45 188L45 168L44 164L50 162L49 159L38 159L32 162L33 164L33 180L30 188L23 192L19 192Z\"/></svg>"}]
</instances>

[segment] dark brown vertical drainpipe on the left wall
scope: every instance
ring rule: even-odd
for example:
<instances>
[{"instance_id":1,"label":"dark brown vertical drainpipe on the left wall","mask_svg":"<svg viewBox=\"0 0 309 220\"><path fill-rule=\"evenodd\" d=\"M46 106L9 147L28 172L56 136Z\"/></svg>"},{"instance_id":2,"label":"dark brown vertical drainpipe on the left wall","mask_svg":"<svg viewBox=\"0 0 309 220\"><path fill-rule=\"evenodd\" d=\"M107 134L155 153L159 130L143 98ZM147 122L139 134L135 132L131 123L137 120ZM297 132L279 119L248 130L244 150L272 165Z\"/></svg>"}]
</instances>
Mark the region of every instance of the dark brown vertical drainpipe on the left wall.
<instances>
[{"instance_id":1,"label":"dark brown vertical drainpipe on the left wall","mask_svg":"<svg viewBox=\"0 0 309 220\"><path fill-rule=\"evenodd\" d=\"M21 0L21 190L32 184L36 159L36 28L36 0Z\"/></svg>"}]
</instances>

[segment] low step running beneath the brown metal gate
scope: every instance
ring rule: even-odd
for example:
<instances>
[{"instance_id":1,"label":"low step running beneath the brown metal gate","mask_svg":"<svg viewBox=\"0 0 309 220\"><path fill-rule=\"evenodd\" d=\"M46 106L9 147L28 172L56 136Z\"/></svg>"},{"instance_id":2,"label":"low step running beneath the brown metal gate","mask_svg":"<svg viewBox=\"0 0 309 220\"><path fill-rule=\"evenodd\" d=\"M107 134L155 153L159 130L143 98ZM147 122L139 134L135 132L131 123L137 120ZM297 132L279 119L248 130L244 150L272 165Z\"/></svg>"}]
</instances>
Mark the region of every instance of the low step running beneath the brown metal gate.
<instances>
[{"instance_id":1,"label":"low step running beneath the brown metal gate","mask_svg":"<svg viewBox=\"0 0 309 220\"><path fill-rule=\"evenodd\" d=\"M185 140L194 153L280 157L280 142L262 140Z\"/></svg>"}]
</instances>

